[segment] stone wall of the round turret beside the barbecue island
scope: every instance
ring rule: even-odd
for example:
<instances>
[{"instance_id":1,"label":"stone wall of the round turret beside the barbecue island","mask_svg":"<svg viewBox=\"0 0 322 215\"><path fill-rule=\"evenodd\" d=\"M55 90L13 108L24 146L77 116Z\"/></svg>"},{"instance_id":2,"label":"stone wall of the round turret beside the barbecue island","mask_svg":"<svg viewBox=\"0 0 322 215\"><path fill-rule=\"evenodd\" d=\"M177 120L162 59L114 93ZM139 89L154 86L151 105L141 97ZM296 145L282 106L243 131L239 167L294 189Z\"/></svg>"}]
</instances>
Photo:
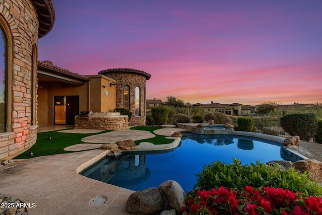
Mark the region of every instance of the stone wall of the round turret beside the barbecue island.
<instances>
[{"instance_id":1,"label":"stone wall of the round turret beside the barbecue island","mask_svg":"<svg viewBox=\"0 0 322 215\"><path fill-rule=\"evenodd\" d=\"M145 82L146 78L139 74L109 71L105 76L117 81L116 107L123 108L124 86L130 87L130 111L132 112L129 125L145 125ZM140 116L135 116L135 88L140 88Z\"/></svg>"}]
</instances>

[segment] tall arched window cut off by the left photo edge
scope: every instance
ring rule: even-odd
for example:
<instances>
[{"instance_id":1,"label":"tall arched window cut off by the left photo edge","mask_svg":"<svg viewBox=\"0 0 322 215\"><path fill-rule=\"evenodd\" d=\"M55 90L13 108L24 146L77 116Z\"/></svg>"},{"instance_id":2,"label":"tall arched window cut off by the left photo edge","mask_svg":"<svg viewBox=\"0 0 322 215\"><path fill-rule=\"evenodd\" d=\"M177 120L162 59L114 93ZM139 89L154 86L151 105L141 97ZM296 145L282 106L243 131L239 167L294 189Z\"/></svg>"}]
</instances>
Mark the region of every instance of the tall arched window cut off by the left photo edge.
<instances>
[{"instance_id":1,"label":"tall arched window cut off by the left photo edge","mask_svg":"<svg viewBox=\"0 0 322 215\"><path fill-rule=\"evenodd\" d=\"M7 54L8 38L0 25L0 133L7 131Z\"/></svg>"}]
</instances>

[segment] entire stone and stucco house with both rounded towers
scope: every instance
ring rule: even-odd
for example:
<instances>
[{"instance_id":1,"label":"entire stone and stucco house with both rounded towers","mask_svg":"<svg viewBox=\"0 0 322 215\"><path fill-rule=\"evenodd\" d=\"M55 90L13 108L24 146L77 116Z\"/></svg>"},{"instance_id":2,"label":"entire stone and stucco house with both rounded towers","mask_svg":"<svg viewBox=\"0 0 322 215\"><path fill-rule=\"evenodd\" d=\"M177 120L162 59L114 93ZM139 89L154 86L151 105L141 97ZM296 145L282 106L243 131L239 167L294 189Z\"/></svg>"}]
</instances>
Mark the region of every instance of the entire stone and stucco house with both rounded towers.
<instances>
[{"instance_id":1,"label":"entire stone and stucco house with both rounded towers","mask_svg":"<svg viewBox=\"0 0 322 215\"><path fill-rule=\"evenodd\" d=\"M81 111L127 108L132 118L126 126L145 125L145 82L151 77L145 71L111 68L84 76L37 61L38 39L54 21L51 0L0 2L0 161L32 147L39 125L73 125Z\"/></svg>"}]
</instances>

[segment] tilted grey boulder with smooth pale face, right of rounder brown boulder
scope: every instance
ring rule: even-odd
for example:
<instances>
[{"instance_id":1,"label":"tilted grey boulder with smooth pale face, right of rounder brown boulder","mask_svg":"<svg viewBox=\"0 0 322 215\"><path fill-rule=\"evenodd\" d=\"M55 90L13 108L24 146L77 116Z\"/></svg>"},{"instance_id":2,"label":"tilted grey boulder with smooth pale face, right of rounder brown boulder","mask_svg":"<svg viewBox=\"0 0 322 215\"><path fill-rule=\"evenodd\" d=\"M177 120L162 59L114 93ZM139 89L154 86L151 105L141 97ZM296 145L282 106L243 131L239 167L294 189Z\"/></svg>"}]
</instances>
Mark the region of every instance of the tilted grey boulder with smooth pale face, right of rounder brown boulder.
<instances>
[{"instance_id":1,"label":"tilted grey boulder with smooth pale face, right of rounder brown boulder","mask_svg":"<svg viewBox=\"0 0 322 215\"><path fill-rule=\"evenodd\" d=\"M180 184L176 181L168 180L159 185L159 190L168 199L169 207L176 209L178 213L182 213L182 207L185 206L184 200L187 195Z\"/></svg>"}]
</instances>

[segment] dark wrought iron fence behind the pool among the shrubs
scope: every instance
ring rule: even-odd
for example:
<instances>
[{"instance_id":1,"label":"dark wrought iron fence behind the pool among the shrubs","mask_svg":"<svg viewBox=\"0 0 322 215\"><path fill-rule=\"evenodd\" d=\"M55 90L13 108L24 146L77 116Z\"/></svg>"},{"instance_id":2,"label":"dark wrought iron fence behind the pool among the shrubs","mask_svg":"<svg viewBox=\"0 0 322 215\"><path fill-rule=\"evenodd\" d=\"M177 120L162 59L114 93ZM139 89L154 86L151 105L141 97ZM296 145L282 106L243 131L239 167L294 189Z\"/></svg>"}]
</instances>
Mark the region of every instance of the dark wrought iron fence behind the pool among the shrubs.
<instances>
[{"instance_id":1,"label":"dark wrought iron fence behind the pool among the shrubs","mask_svg":"<svg viewBox=\"0 0 322 215\"><path fill-rule=\"evenodd\" d=\"M232 120L232 124L237 126L237 118L238 116L230 116ZM279 131L280 136L288 137L290 136L288 133L284 131L284 129L280 125L280 118L276 117L268 117L268 116L253 116L254 126L256 127L257 133L262 133L264 127L274 128Z\"/></svg>"}]
</instances>

